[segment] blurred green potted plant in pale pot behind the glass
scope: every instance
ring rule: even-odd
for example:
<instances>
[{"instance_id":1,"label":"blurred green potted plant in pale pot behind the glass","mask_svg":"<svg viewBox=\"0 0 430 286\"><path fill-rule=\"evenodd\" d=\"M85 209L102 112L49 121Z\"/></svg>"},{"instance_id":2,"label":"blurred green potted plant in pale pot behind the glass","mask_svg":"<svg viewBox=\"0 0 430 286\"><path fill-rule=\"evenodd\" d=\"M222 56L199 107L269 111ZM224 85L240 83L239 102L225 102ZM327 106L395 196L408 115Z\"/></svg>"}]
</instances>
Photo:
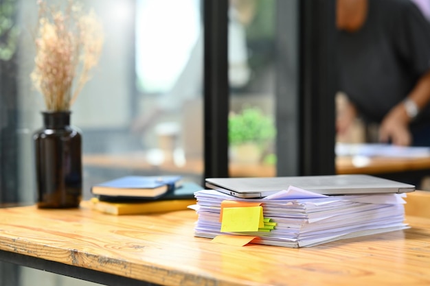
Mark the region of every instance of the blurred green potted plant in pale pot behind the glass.
<instances>
[{"instance_id":1,"label":"blurred green potted plant in pale pot behind the glass","mask_svg":"<svg viewBox=\"0 0 430 286\"><path fill-rule=\"evenodd\" d=\"M273 143L276 129L273 119L257 107L245 107L229 115L229 144L234 160L260 162Z\"/></svg>"}]
</instances>

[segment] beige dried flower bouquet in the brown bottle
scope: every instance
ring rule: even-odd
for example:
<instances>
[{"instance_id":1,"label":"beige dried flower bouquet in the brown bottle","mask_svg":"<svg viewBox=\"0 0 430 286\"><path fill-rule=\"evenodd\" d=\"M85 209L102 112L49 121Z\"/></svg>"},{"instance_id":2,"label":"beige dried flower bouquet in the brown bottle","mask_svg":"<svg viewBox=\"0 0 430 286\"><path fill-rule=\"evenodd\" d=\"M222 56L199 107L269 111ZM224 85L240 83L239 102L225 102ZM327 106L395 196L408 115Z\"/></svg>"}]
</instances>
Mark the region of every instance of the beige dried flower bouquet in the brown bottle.
<instances>
[{"instance_id":1,"label":"beige dried flower bouquet in the brown bottle","mask_svg":"<svg viewBox=\"0 0 430 286\"><path fill-rule=\"evenodd\" d=\"M31 78L48 111L67 111L98 64L102 24L91 10L68 0L65 11L38 2L35 67Z\"/></svg>"}]
</instances>

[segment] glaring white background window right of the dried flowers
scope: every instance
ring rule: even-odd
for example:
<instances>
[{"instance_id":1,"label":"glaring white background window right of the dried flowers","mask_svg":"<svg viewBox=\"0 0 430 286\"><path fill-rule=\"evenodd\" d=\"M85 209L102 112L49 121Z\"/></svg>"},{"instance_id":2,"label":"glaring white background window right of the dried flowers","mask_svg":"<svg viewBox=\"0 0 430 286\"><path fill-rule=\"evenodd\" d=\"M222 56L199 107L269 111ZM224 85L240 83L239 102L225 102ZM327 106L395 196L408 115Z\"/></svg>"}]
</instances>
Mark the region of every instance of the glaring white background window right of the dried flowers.
<instances>
[{"instance_id":1,"label":"glaring white background window right of the dried flowers","mask_svg":"<svg viewBox=\"0 0 430 286\"><path fill-rule=\"evenodd\" d=\"M137 0L136 73L139 91L167 93L177 82L201 32L198 4L196 0Z\"/></svg>"}]
</instances>

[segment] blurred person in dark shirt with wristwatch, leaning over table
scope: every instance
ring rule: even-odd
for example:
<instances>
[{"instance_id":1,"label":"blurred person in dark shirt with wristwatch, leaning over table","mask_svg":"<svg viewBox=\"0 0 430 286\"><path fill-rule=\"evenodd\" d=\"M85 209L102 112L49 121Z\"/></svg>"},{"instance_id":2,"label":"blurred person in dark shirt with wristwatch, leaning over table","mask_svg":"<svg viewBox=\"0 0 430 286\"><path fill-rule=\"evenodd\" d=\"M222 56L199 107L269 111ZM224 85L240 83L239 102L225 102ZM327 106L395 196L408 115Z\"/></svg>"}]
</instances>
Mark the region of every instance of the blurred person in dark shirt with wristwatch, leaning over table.
<instances>
[{"instance_id":1,"label":"blurred person in dark shirt with wristwatch, leaning over table","mask_svg":"<svg viewBox=\"0 0 430 286\"><path fill-rule=\"evenodd\" d=\"M343 134L357 117L378 141L430 146L430 24L410 0L337 0Z\"/></svg>"}]
</instances>

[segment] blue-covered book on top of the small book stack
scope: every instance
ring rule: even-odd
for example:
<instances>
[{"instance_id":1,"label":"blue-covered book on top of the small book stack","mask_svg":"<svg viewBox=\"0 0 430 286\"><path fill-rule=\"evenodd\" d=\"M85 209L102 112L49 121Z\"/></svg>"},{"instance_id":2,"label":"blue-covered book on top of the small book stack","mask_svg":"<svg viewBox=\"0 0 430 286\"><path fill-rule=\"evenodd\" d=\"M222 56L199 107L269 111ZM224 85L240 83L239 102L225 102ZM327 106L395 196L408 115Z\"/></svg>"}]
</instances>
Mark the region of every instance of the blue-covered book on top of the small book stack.
<instances>
[{"instance_id":1,"label":"blue-covered book on top of the small book stack","mask_svg":"<svg viewBox=\"0 0 430 286\"><path fill-rule=\"evenodd\" d=\"M91 187L93 195L110 197L158 198L177 188L181 176L125 176Z\"/></svg>"}]
</instances>

